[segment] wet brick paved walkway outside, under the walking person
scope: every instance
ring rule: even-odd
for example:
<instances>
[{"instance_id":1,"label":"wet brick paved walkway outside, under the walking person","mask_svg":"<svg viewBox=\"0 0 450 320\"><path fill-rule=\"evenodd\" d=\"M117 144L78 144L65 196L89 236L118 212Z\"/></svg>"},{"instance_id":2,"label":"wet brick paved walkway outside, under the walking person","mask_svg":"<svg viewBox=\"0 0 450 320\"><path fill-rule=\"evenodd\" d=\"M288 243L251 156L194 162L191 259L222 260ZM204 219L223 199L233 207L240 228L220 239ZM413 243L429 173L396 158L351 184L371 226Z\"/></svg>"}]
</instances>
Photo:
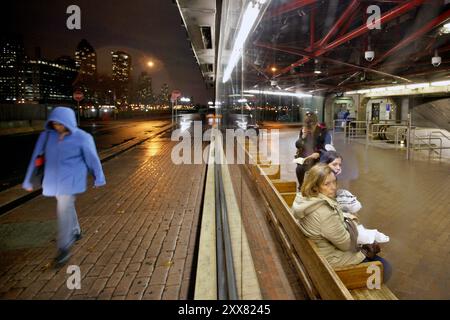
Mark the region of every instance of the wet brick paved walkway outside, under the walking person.
<instances>
[{"instance_id":1,"label":"wet brick paved walkway outside, under the walking person","mask_svg":"<svg viewBox=\"0 0 450 320\"><path fill-rule=\"evenodd\" d=\"M205 166L172 164L173 145L152 139L104 164L107 186L78 198L84 237L59 270L53 198L1 216L0 298L190 298ZM67 289L68 265L81 290Z\"/></svg>"}]
</instances>

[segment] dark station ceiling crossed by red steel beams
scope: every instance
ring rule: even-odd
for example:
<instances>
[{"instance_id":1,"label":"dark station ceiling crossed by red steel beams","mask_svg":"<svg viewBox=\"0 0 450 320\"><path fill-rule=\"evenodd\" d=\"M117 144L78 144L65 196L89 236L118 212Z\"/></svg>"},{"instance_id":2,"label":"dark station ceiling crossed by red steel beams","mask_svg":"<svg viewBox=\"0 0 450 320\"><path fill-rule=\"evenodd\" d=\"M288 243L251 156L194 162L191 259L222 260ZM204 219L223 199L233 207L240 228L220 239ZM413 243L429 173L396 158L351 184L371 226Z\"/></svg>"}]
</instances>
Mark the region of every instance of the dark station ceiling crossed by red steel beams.
<instances>
[{"instance_id":1,"label":"dark station ceiling crossed by red steel beams","mask_svg":"<svg viewBox=\"0 0 450 320\"><path fill-rule=\"evenodd\" d=\"M247 40L245 87L327 93L449 79L449 22L444 0L271 1Z\"/></svg>"}]
</instances>

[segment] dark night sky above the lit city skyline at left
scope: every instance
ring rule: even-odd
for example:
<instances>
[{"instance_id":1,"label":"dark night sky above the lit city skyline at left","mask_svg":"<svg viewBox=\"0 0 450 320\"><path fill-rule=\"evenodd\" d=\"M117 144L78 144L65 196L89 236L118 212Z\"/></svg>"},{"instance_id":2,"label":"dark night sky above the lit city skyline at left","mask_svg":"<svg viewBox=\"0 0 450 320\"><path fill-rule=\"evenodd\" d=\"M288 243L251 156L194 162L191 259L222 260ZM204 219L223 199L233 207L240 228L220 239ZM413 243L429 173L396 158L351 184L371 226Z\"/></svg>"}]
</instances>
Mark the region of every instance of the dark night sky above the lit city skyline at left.
<instances>
[{"instance_id":1,"label":"dark night sky above the lit city skyline at left","mask_svg":"<svg viewBox=\"0 0 450 320\"><path fill-rule=\"evenodd\" d=\"M161 85L194 96L195 103L206 104L213 91L206 89L195 57L186 39L178 8L172 0L14 0L2 3L2 29L21 34L26 52L34 57L41 47L43 58L74 57L85 38L97 52L100 73L111 74L112 50L132 56L133 78L145 70L153 78L153 91ZM69 5L81 8L81 30L69 30ZM155 67L146 66L148 60Z\"/></svg>"}]
</instances>

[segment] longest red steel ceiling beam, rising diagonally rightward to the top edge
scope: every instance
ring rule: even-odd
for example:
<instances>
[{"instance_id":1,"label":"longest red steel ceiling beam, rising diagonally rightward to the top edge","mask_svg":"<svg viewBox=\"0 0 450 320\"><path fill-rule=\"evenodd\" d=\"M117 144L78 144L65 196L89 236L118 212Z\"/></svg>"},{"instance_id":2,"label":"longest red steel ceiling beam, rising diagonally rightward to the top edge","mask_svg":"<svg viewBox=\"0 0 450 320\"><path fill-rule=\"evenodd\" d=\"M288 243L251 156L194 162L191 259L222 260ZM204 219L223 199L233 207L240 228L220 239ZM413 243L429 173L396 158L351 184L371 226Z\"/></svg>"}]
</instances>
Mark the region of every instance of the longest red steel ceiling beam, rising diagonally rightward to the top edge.
<instances>
[{"instance_id":1,"label":"longest red steel ceiling beam, rising diagonally rightward to the top edge","mask_svg":"<svg viewBox=\"0 0 450 320\"><path fill-rule=\"evenodd\" d=\"M395 19L398 16L401 16L402 14L404 14L404 13L414 9L415 7L420 6L423 2L425 2L425 0L411 0L411 1L408 1L407 3L405 3L405 4L399 5L399 6L395 7L394 9L392 9L392 10L386 12L385 14L383 14L381 16L381 18L379 19L379 22L382 24L382 23L391 21L392 19ZM336 47L338 47L338 46L340 46L340 45L342 45L342 44L344 44L344 43L346 43L346 42L348 42L348 41L350 41L350 40L352 40L352 39L354 39L356 37L359 37L359 36L363 35L364 33L369 32L369 30L370 29L367 27L367 24L364 23L359 28L357 28L357 29L347 33L346 35L336 39L332 43L330 43L330 44L328 44L328 45L318 49L317 51L315 51L314 52L314 57L321 56L321 55L323 55L323 54L325 54L325 53L335 49ZM277 73L275 75L275 77L278 77L278 76L280 76L280 75L282 75L284 73L287 73L292 68L295 68L295 67L297 67L297 66L299 66L301 64L304 64L304 63L308 62L309 60L310 60L310 58L307 58L307 57L304 57L304 58L298 60L295 63L291 64L290 66L280 70L280 72Z\"/></svg>"}]
</instances>

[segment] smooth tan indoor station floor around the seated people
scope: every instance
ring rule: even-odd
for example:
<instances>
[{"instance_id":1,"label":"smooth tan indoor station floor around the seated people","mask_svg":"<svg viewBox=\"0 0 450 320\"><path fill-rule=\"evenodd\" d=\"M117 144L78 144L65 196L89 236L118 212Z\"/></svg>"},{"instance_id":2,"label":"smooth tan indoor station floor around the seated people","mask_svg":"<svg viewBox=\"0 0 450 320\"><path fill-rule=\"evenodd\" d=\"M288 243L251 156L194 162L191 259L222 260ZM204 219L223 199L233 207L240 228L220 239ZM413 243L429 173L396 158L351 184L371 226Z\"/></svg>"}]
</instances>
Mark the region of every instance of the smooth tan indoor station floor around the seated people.
<instances>
[{"instance_id":1,"label":"smooth tan indoor station floor around the seated people","mask_svg":"<svg viewBox=\"0 0 450 320\"><path fill-rule=\"evenodd\" d=\"M292 163L298 129L280 129L281 179L296 181ZM393 275L387 283L399 299L450 299L450 163L405 150L334 137L343 156L338 188L357 196L361 223L390 237L382 256Z\"/></svg>"}]
</instances>

